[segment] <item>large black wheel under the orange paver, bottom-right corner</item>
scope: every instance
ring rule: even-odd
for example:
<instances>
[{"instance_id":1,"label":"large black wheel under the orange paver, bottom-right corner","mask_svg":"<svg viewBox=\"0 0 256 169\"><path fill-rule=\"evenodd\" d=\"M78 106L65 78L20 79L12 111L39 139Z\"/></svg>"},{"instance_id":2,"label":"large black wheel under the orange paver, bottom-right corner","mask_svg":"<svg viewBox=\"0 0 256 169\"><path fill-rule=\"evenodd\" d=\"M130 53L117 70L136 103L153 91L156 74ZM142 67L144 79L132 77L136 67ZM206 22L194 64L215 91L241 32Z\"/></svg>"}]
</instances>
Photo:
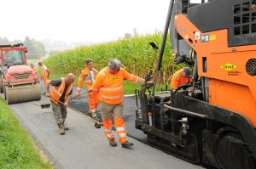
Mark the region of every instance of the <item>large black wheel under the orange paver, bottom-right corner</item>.
<instances>
[{"instance_id":1,"label":"large black wheel under the orange paver, bottom-right corner","mask_svg":"<svg viewBox=\"0 0 256 169\"><path fill-rule=\"evenodd\" d=\"M230 132L218 138L215 144L215 156L218 165L224 169L253 169L255 164L249 148L241 135Z\"/></svg>"}]
</instances>

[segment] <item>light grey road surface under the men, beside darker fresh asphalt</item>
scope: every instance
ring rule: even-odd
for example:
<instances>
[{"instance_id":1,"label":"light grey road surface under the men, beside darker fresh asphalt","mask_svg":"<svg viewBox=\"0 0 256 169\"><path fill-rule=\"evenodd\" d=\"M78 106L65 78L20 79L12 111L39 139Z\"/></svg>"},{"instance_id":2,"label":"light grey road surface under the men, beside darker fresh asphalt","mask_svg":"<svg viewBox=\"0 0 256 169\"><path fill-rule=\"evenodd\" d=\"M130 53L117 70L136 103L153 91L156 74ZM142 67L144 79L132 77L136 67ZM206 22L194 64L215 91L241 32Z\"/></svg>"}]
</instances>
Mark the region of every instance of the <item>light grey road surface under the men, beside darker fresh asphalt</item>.
<instances>
[{"instance_id":1,"label":"light grey road surface under the men, beside darker fresh asphalt","mask_svg":"<svg viewBox=\"0 0 256 169\"><path fill-rule=\"evenodd\" d=\"M66 122L70 130L66 132L66 135L61 136L58 133L51 108L41 109L35 105L46 103L49 103L49 99L42 96L39 101L11 104L10 107L21 125L32 135L32 138L49 156L56 168L202 168L177 159L172 155L167 155L159 149L129 137L128 140L135 144L133 149L123 149L120 144L114 148L110 147L102 128L96 129L94 122L70 109L68 109ZM75 104L76 102L71 103ZM125 104L124 114L128 132L133 130L132 125L131 127L129 125L130 122L133 123L134 127L132 116L134 112L132 112L131 107L130 104ZM86 105L83 109L86 110Z\"/></svg>"}]
</instances>

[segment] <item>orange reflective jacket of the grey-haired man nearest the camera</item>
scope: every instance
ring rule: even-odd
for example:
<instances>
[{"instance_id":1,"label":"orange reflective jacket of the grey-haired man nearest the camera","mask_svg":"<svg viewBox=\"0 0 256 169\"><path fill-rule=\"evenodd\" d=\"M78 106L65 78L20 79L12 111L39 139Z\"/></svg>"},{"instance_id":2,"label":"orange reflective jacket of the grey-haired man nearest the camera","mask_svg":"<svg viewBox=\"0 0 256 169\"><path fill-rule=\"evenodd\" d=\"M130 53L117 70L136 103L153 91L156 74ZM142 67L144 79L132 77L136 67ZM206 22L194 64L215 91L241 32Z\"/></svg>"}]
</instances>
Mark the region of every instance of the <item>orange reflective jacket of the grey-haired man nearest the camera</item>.
<instances>
[{"instance_id":1,"label":"orange reflective jacket of the grey-haired man nearest the camera","mask_svg":"<svg viewBox=\"0 0 256 169\"><path fill-rule=\"evenodd\" d=\"M98 98L107 104L120 104L123 102L124 79L130 82L137 82L137 76L131 75L125 69L120 68L119 72L111 74L105 67L96 76L92 88L98 93Z\"/></svg>"}]
</instances>

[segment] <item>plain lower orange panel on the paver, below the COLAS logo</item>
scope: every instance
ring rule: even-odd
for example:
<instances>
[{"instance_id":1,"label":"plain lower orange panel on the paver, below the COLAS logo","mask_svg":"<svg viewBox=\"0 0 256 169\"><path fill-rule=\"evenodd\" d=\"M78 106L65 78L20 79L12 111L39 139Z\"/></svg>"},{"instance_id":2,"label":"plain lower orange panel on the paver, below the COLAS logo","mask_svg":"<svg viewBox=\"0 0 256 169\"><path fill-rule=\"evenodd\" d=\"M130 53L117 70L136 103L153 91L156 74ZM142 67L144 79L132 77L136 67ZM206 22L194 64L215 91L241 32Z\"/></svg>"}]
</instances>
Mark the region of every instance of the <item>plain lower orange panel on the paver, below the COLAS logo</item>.
<instances>
[{"instance_id":1,"label":"plain lower orange panel on the paver, below the COLAS logo","mask_svg":"<svg viewBox=\"0 0 256 169\"><path fill-rule=\"evenodd\" d=\"M216 79L211 79L209 86L211 104L244 115L256 127L256 104L249 87Z\"/></svg>"}]
</instances>

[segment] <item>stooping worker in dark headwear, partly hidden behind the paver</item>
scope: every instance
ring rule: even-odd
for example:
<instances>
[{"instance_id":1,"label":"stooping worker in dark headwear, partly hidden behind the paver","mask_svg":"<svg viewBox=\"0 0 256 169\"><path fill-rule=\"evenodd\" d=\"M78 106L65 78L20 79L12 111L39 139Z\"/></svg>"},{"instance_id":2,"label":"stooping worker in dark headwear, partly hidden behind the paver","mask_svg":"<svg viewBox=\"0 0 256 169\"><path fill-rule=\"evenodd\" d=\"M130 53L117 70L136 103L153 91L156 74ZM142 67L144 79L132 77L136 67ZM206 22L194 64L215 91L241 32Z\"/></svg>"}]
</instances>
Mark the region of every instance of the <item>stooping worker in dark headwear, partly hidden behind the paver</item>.
<instances>
[{"instance_id":1,"label":"stooping worker in dark headwear, partly hidden behind the paver","mask_svg":"<svg viewBox=\"0 0 256 169\"><path fill-rule=\"evenodd\" d=\"M191 69L189 67L185 67L182 70L177 70L172 76L171 89L176 90L177 87L192 82L190 75Z\"/></svg>"}]
</instances>

